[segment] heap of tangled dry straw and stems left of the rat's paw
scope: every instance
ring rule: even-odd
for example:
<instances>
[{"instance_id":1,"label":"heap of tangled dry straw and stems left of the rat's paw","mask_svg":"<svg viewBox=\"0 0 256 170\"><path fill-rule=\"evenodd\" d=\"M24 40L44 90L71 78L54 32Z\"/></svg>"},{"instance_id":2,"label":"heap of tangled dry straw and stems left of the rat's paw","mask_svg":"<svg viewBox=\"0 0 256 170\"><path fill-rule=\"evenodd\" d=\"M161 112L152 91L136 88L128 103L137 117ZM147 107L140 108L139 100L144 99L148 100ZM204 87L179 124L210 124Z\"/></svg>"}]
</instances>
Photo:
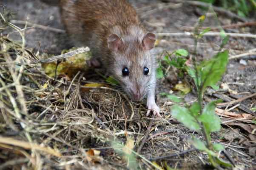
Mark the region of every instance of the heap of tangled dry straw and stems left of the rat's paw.
<instances>
[{"instance_id":1,"label":"heap of tangled dry straw and stems left of the rat's paw","mask_svg":"<svg viewBox=\"0 0 256 170\"><path fill-rule=\"evenodd\" d=\"M139 145L150 121L141 116L145 103L131 103L118 89L80 86L84 72L71 81L49 77L39 69L38 52L25 47L27 25L21 29L4 14L0 30L15 31L0 36L0 169L125 168L122 151L131 153L134 142L126 150L123 144L135 135ZM9 39L12 33L22 41ZM167 120L155 123L169 125Z\"/></svg>"}]
</instances>

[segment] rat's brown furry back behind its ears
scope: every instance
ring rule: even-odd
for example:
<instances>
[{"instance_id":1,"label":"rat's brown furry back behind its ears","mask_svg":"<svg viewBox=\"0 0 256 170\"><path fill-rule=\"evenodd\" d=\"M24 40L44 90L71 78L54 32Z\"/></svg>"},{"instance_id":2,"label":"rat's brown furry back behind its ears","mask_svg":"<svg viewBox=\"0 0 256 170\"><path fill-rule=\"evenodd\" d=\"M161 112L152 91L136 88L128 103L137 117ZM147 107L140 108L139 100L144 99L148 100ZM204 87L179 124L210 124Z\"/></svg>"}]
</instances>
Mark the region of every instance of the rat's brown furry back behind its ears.
<instances>
[{"instance_id":1,"label":"rat's brown furry back behind its ears","mask_svg":"<svg viewBox=\"0 0 256 170\"><path fill-rule=\"evenodd\" d=\"M111 33L126 34L133 25L142 27L136 11L125 0L60 0L60 12L73 44L87 45L93 53L109 51Z\"/></svg>"}]
</instances>

